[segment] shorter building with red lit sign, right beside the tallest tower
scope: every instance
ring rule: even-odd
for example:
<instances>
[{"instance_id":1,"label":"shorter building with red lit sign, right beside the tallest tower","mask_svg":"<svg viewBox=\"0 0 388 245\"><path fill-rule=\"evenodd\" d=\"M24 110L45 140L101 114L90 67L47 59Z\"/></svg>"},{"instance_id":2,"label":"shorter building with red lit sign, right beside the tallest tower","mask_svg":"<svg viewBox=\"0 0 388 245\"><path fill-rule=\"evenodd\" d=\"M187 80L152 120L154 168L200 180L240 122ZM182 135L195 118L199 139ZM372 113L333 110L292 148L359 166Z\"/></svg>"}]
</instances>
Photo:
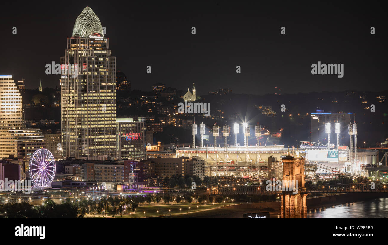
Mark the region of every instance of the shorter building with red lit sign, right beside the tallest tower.
<instances>
[{"instance_id":1,"label":"shorter building with red lit sign, right beside the tallest tower","mask_svg":"<svg viewBox=\"0 0 388 245\"><path fill-rule=\"evenodd\" d=\"M117 119L117 149L119 159L147 160L145 123L132 118Z\"/></svg>"}]
</instances>

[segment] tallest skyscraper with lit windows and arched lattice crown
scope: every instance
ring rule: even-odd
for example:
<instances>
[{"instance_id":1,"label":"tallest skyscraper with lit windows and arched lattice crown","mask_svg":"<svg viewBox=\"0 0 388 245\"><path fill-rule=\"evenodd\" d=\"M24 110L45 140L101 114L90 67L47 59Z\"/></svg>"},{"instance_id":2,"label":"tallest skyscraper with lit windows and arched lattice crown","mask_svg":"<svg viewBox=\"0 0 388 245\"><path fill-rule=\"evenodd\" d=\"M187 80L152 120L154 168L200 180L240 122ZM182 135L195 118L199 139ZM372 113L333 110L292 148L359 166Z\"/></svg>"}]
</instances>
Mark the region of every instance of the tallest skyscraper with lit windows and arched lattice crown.
<instances>
[{"instance_id":1,"label":"tallest skyscraper with lit windows and arched lattice crown","mask_svg":"<svg viewBox=\"0 0 388 245\"><path fill-rule=\"evenodd\" d=\"M116 157L116 57L89 7L61 57L61 107L64 157Z\"/></svg>"}]
</instances>

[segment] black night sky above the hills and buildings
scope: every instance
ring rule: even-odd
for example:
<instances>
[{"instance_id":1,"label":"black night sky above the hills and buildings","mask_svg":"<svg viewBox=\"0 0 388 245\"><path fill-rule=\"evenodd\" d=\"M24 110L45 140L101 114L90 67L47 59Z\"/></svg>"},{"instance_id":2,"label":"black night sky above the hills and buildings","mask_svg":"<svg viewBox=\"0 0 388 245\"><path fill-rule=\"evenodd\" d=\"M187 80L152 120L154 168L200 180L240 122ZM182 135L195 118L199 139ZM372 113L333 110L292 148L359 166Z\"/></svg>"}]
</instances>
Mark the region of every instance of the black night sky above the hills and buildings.
<instances>
[{"instance_id":1,"label":"black night sky above the hills and buildings","mask_svg":"<svg viewBox=\"0 0 388 245\"><path fill-rule=\"evenodd\" d=\"M218 88L274 93L275 86L280 93L387 90L387 9L381 4L2 3L0 74L26 79L29 89L37 88L40 79L43 88L59 85L60 75L46 75L45 64L60 62L74 22L88 6L106 27L117 70L126 74L132 89L151 90L161 82L182 90L196 83L199 95ZM286 35L280 34L282 26ZM318 61L343 63L344 77L312 75L311 65Z\"/></svg>"}]
</instances>

